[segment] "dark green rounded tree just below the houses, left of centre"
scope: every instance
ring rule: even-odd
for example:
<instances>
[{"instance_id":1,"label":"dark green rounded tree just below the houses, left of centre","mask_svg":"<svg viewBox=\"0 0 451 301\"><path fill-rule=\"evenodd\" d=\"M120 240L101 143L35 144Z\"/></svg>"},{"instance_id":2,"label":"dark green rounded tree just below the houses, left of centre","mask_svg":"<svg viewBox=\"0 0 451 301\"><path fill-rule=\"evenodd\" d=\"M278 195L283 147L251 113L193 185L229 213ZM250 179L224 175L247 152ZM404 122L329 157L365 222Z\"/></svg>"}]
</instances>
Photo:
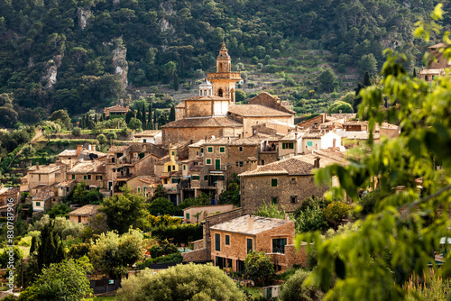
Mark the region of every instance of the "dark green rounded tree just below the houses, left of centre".
<instances>
[{"instance_id":1,"label":"dark green rounded tree just below the houses, left of centre","mask_svg":"<svg viewBox=\"0 0 451 301\"><path fill-rule=\"evenodd\" d=\"M106 214L106 224L111 230L126 233L130 227L143 229L145 216L144 198L132 195L130 188L123 187L122 195L107 197L99 211Z\"/></svg>"}]
</instances>

